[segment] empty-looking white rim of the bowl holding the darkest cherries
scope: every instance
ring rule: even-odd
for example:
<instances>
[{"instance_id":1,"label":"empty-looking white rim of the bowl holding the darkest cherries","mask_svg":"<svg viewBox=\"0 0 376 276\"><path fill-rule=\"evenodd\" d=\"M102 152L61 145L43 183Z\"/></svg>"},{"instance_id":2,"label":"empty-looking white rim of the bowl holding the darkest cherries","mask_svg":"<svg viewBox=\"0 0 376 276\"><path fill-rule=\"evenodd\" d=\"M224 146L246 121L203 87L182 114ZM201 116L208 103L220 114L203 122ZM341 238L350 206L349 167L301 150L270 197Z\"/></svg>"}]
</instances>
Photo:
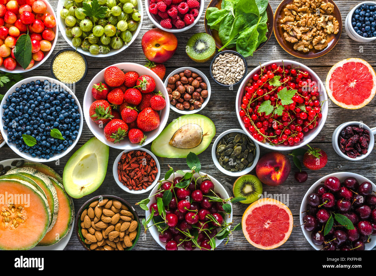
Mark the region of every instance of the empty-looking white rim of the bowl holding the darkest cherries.
<instances>
[{"instance_id":1,"label":"empty-looking white rim of the bowl holding the darkest cherries","mask_svg":"<svg viewBox=\"0 0 376 276\"><path fill-rule=\"evenodd\" d=\"M303 224L303 217L305 216L305 211L307 210L307 198L308 198L308 195L310 193L314 193L315 192L315 189L317 188L317 186L319 185L322 185L323 182L330 176L335 176L337 177L338 179L340 179L341 182L343 182L346 178L348 177L354 177L356 178L356 180L358 180L359 183L362 183L364 181L368 181L372 184L372 187L373 187L373 191L376 190L376 185L370 181L368 178L365 178L364 176L361 176L361 175L358 175L356 173L352 173L352 172L335 172L335 173L331 173L331 174L328 174L326 176L323 176L321 177L320 179L318 179L309 189L308 191L306 192L306 194L304 195L304 198L302 200L302 205L300 205L300 224ZM323 246L321 245L316 245L312 242L312 239L311 239L311 233L312 232L309 232L307 231L306 229L304 229L304 225L301 226L302 227L302 231L303 231L303 234L304 234L304 237L307 239L308 243L311 244L311 246L316 249L316 250L320 250L323 248ZM374 236L372 236L374 237ZM371 250L374 246L376 245L376 238L372 238L371 239L371 242L370 243L366 243L365 244L365 250Z\"/></svg>"}]
</instances>

